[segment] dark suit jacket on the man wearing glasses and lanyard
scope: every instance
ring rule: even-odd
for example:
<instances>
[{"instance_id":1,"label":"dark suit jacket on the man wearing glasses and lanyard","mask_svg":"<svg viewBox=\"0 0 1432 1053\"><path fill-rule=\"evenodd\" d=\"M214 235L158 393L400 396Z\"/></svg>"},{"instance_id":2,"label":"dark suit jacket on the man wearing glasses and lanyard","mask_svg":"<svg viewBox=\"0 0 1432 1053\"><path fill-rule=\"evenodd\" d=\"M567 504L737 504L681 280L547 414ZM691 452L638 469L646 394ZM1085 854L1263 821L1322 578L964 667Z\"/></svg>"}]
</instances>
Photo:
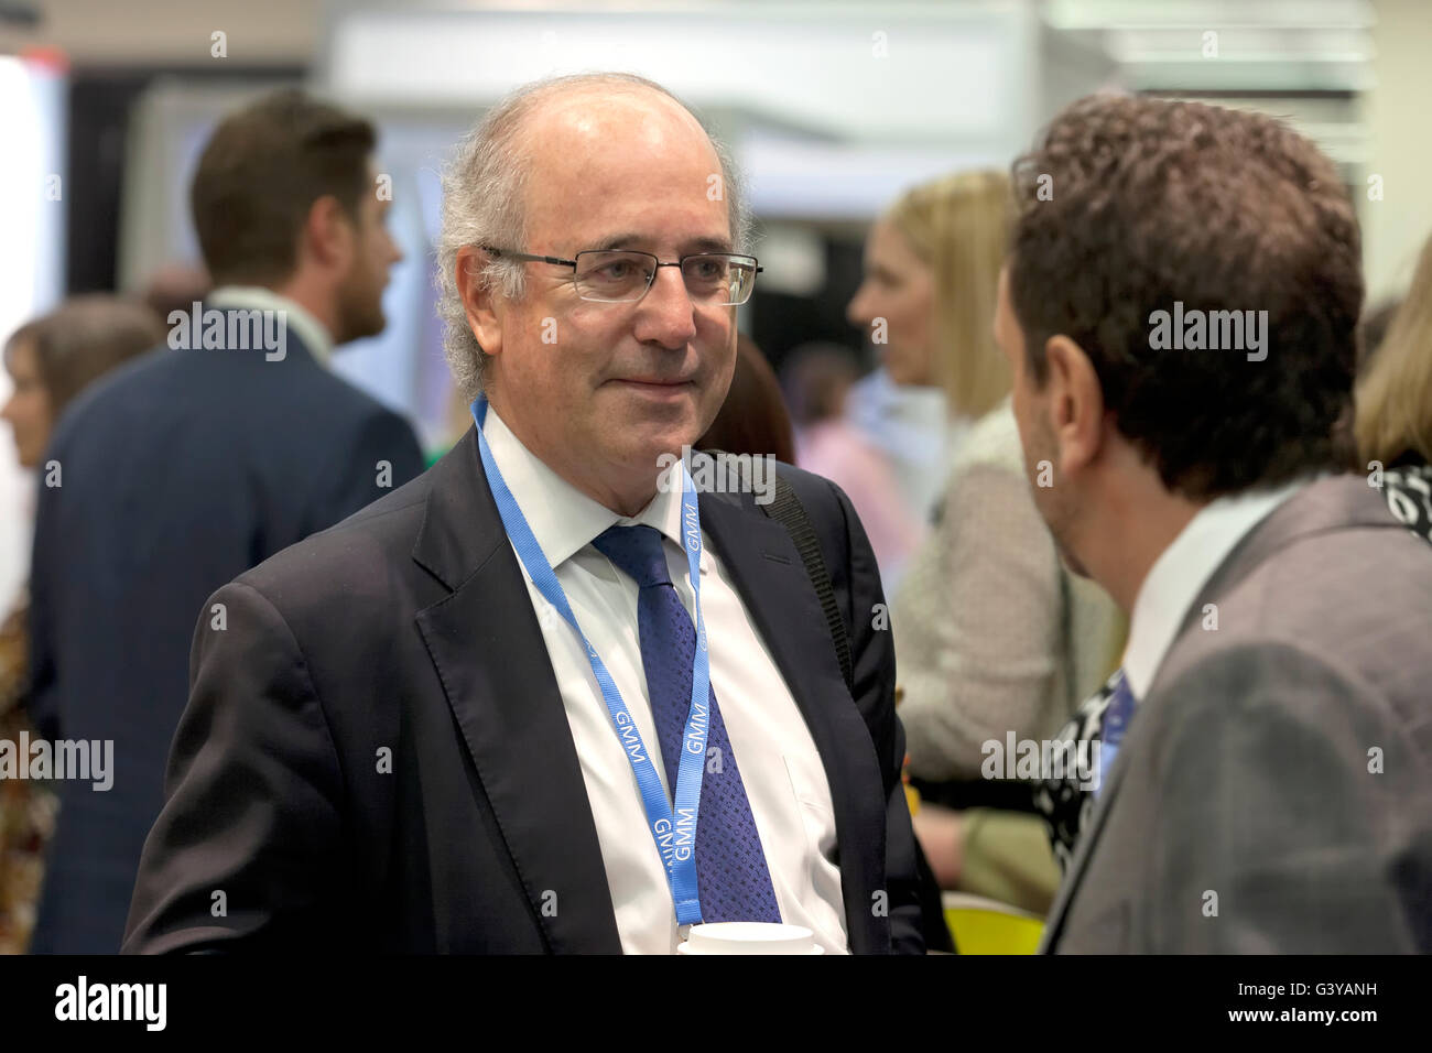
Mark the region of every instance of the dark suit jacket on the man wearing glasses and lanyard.
<instances>
[{"instance_id":1,"label":"dark suit jacket on the man wearing glasses and lanyard","mask_svg":"<svg viewBox=\"0 0 1432 1053\"><path fill-rule=\"evenodd\" d=\"M918 953L875 556L845 494L780 473L851 630L853 701L786 532L750 494L702 494L702 526L825 764L852 950ZM620 953L561 695L474 430L212 599L229 625L195 636L126 953Z\"/></svg>"}]
</instances>

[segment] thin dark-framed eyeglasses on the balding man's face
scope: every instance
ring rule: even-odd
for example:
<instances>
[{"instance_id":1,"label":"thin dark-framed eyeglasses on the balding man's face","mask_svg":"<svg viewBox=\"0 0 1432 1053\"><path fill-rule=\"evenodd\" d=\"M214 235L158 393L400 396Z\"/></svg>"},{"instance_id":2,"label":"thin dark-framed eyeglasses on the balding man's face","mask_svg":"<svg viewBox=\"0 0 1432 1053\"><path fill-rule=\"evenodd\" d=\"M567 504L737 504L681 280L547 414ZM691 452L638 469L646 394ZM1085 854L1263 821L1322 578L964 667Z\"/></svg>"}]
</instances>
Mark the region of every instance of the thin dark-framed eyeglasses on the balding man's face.
<instances>
[{"instance_id":1,"label":"thin dark-framed eyeglasses on the balding man's face","mask_svg":"<svg viewBox=\"0 0 1432 1053\"><path fill-rule=\"evenodd\" d=\"M571 268L571 282L577 295L599 304L632 304L646 295L656 281L659 266L682 268L682 279L692 301L703 307L733 307L750 299L756 275L765 268L755 256L733 252L699 252L682 256L674 264L663 264L650 252L596 251L579 252L576 259L534 256L483 246L494 256L524 259L534 264L554 264Z\"/></svg>"}]
</instances>

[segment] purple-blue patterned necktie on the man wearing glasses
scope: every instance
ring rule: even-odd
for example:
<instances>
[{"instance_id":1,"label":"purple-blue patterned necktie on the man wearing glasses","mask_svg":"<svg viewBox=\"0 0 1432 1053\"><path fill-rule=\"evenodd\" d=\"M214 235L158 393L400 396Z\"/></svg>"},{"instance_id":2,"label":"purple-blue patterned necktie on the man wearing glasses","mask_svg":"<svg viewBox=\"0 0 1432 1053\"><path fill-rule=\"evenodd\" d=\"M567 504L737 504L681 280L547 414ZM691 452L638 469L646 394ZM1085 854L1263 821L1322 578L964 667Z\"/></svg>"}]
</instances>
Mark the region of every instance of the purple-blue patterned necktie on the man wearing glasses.
<instances>
[{"instance_id":1,"label":"purple-blue patterned necktie on the man wearing glasses","mask_svg":"<svg viewBox=\"0 0 1432 1053\"><path fill-rule=\"evenodd\" d=\"M667 785L674 789L686 716L692 708L696 629L672 585L659 532L647 526L614 526L593 544L640 586L637 632L642 666L646 669ZM720 765L716 771L712 771L713 765L706 765L696 819L696 885L702 897L702 921L780 921L766 854L760 848L760 834L740 782L736 754L726 736L726 722L716 705L715 688L710 691L706 748L707 754L712 748L719 751Z\"/></svg>"}]
</instances>

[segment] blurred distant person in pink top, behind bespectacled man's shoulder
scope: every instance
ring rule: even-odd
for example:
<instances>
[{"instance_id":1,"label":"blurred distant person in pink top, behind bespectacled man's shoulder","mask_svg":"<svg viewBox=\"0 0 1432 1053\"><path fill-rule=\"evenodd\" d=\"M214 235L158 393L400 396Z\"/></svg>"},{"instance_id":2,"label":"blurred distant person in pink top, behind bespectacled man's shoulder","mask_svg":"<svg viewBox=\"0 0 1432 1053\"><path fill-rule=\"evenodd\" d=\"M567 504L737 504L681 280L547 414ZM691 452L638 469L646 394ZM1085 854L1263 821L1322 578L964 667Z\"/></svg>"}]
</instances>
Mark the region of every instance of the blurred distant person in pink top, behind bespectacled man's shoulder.
<instances>
[{"instance_id":1,"label":"blurred distant person in pink top, behind bespectacled man's shoulder","mask_svg":"<svg viewBox=\"0 0 1432 1053\"><path fill-rule=\"evenodd\" d=\"M901 500L889 463L845 413L858 375L855 352L839 344L805 344L790 352L785 390L796 423L796 464L825 476L851 499L881 564L881 582L892 592L922 530Z\"/></svg>"}]
</instances>

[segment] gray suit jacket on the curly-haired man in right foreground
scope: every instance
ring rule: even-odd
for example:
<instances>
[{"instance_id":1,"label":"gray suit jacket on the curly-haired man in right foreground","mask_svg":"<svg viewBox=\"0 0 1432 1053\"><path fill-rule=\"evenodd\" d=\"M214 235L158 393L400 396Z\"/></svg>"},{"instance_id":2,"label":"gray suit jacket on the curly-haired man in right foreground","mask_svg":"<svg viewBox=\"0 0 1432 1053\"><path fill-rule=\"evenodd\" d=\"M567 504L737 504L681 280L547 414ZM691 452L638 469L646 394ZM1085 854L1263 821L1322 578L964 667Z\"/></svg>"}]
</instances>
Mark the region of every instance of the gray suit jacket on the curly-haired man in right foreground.
<instances>
[{"instance_id":1,"label":"gray suit jacket on the curly-haired man in right foreground","mask_svg":"<svg viewBox=\"0 0 1432 1053\"><path fill-rule=\"evenodd\" d=\"M1295 494L1203 587L1042 950L1432 951L1432 552L1365 479Z\"/></svg>"}]
</instances>

